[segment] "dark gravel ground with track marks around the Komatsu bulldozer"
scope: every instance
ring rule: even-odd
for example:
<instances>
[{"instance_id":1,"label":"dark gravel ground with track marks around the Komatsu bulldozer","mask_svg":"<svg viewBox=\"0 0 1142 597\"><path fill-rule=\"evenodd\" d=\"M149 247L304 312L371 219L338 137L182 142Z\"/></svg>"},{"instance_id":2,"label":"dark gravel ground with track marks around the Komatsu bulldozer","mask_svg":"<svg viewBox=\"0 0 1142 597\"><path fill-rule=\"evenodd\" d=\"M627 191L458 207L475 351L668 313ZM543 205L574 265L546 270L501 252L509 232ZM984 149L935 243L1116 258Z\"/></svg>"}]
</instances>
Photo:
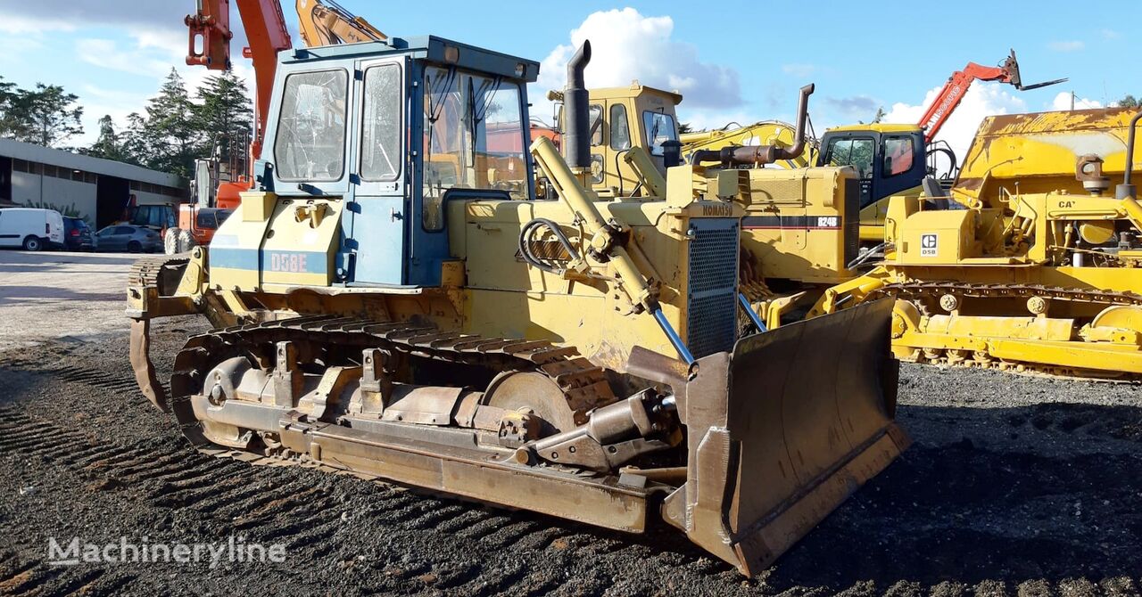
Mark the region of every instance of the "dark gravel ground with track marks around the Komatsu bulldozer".
<instances>
[{"instance_id":1,"label":"dark gravel ground with track marks around the Komatsu bulldozer","mask_svg":"<svg viewBox=\"0 0 1142 597\"><path fill-rule=\"evenodd\" d=\"M200 324L159 328L160 369ZM753 579L625 535L192 452L126 334L0 352L0 592L1140 595L1140 387L904 365L915 444ZM281 564L46 564L48 538L284 544ZM147 539L144 540L143 538Z\"/></svg>"}]
</instances>

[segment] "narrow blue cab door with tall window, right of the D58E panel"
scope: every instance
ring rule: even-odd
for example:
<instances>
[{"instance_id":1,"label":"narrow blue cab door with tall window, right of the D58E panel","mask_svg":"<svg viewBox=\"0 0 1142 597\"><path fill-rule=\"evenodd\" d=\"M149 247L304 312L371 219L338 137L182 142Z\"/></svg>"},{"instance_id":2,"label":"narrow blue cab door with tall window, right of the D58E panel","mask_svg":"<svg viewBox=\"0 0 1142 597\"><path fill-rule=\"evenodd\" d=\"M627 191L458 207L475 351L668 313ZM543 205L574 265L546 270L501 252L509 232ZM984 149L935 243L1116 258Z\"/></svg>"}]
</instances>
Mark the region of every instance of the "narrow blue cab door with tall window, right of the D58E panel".
<instances>
[{"instance_id":1,"label":"narrow blue cab door with tall window, right of the D58E panel","mask_svg":"<svg viewBox=\"0 0 1142 597\"><path fill-rule=\"evenodd\" d=\"M353 282L403 284L410 215L408 151L409 62L363 60L354 81L359 120L353 134L351 176L355 186L348 209L345 250Z\"/></svg>"}]
</instances>

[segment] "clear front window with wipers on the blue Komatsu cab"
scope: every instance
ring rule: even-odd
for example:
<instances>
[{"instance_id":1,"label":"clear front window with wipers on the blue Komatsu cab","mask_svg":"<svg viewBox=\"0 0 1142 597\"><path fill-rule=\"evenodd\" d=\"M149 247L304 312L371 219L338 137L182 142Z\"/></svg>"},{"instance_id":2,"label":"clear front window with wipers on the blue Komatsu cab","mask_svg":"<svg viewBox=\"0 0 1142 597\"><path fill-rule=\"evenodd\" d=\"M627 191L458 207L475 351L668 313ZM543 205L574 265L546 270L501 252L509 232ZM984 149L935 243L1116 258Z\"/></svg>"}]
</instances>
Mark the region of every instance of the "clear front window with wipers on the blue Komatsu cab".
<instances>
[{"instance_id":1,"label":"clear front window with wipers on the blue Komatsu cab","mask_svg":"<svg viewBox=\"0 0 1142 597\"><path fill-rule=\"evenodd\" d=\"M424 227L443 227L441 202L453 187L528 199L518 83L433 66L425 70L424 94Z\"/></svg>"}]
</instances>

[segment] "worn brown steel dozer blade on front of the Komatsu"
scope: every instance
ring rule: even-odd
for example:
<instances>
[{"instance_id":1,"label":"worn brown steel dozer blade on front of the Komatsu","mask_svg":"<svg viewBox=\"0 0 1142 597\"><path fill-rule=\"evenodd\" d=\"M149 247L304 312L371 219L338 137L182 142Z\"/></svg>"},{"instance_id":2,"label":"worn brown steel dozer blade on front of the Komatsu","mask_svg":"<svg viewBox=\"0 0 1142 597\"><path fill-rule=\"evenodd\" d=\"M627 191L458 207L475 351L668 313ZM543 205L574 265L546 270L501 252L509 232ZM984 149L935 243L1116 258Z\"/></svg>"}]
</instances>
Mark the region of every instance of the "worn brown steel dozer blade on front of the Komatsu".
<instances>
[{"instance_id":1,"label":"worn brown steel dozer blade on front of the Komatsu","mask_svg":"<svg viewBox=\"0 0 1142 597\"><path fill-rule=\"evenodd\" d=\"M742 338L677 396L686 483L664 517L745 574L765 570L909 439L893 422L892 301Z\"/></svg>"}]
</instances>

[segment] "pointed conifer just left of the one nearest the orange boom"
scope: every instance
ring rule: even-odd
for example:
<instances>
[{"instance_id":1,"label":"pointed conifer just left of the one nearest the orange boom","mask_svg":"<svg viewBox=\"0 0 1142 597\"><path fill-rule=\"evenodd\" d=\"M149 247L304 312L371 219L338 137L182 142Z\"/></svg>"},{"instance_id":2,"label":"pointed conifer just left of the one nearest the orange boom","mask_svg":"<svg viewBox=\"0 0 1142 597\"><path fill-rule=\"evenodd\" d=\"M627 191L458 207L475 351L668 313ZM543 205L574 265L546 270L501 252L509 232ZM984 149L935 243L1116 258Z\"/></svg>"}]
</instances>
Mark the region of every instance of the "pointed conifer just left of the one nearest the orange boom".
<instances>
[{"instance_id":1,"label":"pointed conifer just left of the one nearest the orange boom","mask_svg":"<svg viewBox=\"0 0 1142 597\"><path fill-rule=\"evenodd\" d=\"M147 102L142 138L150 154L144 161L146 167L191 177L194 159L200 156L206 137L198 111L186 92L186 83L172 67L159 95Z\"/></svg>"}]
</instances>

